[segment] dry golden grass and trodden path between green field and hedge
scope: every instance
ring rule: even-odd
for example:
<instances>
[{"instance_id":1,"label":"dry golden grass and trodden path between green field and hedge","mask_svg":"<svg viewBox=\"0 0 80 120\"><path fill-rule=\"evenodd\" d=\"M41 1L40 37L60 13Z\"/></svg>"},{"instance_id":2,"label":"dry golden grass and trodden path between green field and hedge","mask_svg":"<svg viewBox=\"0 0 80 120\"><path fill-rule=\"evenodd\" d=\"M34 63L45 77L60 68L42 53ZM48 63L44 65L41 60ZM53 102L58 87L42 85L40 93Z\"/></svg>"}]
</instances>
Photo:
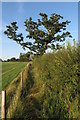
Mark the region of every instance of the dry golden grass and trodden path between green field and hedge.
<instances>
[{"instance_id":1,"label":"dry golden grass and trodden path between green field and hedge","mask_svg":"<svg viewBox=\"0 0 80 120\"><path fill-rule=\"evenodd\" d=\"M39 97L44 91L44 85L34 83L30 66L28 64L23 70L23 89L21 88L20 75L7 89L7 118L30 119L41 117Z\"/></svg>"}]
</instances>

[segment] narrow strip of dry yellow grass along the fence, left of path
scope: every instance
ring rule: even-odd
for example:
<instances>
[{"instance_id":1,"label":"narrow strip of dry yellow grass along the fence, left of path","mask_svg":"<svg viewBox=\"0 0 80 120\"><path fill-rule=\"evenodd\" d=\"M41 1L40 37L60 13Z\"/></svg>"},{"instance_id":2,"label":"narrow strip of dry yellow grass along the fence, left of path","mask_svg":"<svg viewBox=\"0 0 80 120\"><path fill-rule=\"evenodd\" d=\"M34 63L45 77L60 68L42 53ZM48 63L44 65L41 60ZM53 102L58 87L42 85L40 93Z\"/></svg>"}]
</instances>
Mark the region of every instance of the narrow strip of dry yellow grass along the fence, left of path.
<instances>
[{"instance_id":1,"label":"narrow strip of dry yellow grass along the fence, left of path","mask_svg":"<svg viewBox=\"0 0 80 120\"><path fill-rule=\"evenodd\" d=\"M27 67L27 66L26 66ZM26 80L26 67L23 72L23 81ZM7 118L11 118L17 107L18 99L20 98L22 89L21 73L7 87Z\"/></svg>"}]
</instances>

